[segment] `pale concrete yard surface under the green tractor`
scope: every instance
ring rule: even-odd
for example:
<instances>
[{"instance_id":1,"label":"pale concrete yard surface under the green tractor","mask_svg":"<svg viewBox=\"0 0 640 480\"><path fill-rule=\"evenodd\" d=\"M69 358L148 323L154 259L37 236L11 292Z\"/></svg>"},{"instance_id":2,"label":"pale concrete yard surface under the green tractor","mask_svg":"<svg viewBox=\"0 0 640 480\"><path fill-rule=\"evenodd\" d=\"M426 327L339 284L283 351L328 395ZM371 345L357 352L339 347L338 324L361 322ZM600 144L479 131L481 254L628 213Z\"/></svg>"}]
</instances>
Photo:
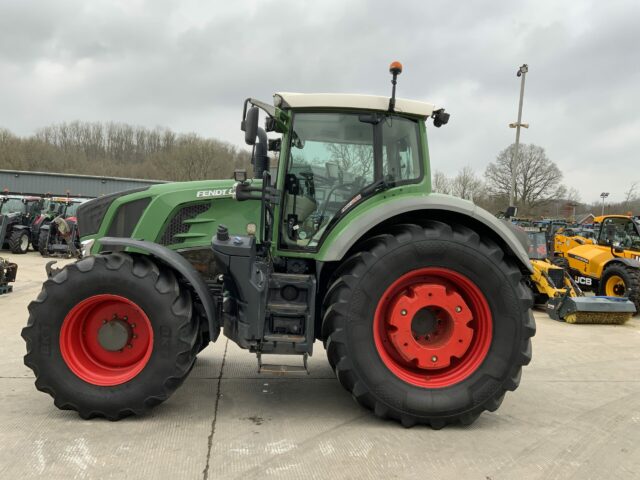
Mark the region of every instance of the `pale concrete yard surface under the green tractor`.
<instances>
[{"instance_id":1,"label":"pale concrete yard surface under the green tractor","mask_svg":"<svg viewBox=\"0 0 640 480\"><path fill-rule=\"evenodd\" d=\"M377 419L342 389L321 343L310 375L274 377L223 336L150 415L84 421L38 392L22 360L48 259L0 256L19 264L14 292L0 295L1 479L640 477L638 317L568 325L537 312L520 388L470 427Z\"/></svg>"}]
</instances>

